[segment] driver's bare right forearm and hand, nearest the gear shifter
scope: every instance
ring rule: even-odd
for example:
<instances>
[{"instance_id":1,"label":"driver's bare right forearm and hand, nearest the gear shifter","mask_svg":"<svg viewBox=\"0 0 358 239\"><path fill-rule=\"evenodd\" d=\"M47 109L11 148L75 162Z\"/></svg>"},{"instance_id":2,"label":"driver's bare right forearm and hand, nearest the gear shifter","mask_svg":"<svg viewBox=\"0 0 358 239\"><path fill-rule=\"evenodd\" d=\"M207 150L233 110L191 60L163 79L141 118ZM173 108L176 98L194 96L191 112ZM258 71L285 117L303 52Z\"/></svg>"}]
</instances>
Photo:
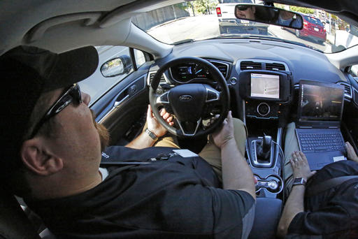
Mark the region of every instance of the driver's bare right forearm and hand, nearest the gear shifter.
<instances>
[{"instance_id":1,"label":"driver's bare right forearm and hand, nearest the gear shifter","mask_svg":"<svg viewBox=\"0 0 358 239\"><path fill-rule=\"evenodd\" d=\"M222 129L213 133L213 140L221 149L223 188L247 191L256 198L251 168L236 145L231 111L224 120Z\"/></svg>"}]
</instances>

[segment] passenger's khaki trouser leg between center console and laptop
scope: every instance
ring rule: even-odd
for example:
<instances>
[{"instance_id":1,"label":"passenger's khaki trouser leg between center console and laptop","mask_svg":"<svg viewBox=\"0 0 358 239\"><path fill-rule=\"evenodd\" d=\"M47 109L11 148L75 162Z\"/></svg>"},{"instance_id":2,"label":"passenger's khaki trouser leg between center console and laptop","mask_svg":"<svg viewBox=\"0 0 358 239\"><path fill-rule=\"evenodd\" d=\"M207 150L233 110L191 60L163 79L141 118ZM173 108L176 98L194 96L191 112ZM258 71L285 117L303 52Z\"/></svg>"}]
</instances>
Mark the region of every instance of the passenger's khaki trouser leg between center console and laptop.
<instances>
[{"instance_id":1,"label":"passenger's khaki trouser leg between center console and laptop","mask_svg":"<svg viewBox=\"0 0 358 239\"><path fill-rule=\"evenodd\" d=\"M287 124L286 138L285 138L285 195L289 195L292 189L292 183L294 182L292 166L289 163L291 154L294 151L299 151L299 140L296 136L296 124L294 122Z\"/></svg>"}]
</instances>

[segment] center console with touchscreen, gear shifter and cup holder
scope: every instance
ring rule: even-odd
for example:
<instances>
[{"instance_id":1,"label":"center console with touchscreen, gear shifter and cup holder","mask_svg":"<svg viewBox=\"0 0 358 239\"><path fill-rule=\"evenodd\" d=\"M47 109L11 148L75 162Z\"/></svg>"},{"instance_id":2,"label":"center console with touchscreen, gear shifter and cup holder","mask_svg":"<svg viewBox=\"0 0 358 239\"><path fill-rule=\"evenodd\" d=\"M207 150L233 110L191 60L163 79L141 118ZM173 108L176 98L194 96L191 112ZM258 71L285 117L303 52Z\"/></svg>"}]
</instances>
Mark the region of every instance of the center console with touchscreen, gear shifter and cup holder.
<instances>
[{"instance_id":1,"label":"center console with touchscreen, gear shifter and cup holder","mask_svg":"<svg viewBox=\"0 0 358 239\"><path fill-rule=\"evenodd\" d=\"M285 72L241 71L239 93L248 128L246 157L257 179L257 197L282 199L285 185L280 119L291 101L292 80Z\"/></svg>"}]
</instances>

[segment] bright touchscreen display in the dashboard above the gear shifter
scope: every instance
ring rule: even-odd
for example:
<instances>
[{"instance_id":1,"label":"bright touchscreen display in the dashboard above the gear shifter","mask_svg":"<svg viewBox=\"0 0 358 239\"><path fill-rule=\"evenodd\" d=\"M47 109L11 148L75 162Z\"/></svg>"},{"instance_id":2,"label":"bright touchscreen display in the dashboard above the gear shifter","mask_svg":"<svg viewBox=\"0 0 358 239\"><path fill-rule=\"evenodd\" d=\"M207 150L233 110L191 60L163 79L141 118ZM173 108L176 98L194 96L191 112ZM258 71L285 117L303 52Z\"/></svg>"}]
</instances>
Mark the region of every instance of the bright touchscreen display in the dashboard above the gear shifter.
<instances>
[{"instance_id":1,"label":"bright touchscreen display in the dashboard above the gear shifter","mask_svg":"<svg viewBox=\"0 0 358 239\"><path fill-rule=\"evenodd\" d=\"M251 73L250 96L280 99L280 75Z\"/></svg>"}]
</instances>

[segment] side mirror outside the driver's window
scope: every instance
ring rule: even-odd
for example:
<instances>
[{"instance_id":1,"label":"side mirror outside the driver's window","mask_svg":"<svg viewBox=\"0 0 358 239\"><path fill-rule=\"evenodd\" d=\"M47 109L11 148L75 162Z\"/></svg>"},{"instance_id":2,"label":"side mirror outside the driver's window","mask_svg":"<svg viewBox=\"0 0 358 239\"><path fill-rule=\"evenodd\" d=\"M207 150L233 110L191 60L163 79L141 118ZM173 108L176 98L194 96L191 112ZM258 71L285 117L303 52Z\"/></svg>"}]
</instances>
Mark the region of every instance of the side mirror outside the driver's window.
<instances>
[{"instance_id":1,"label":"side mirror outside the driver's window","mask_svg":"<svg viewBox=\"0 0 358 239\"><path fill-rule=\"evenodd\" d=\"M113 77L116 75L123 75L124 73L129 73L131 71L131 57L127 55L122 55L115 59L106 61L101 66L101 73L104 77Z\"/></svg>"}]
</instances>

